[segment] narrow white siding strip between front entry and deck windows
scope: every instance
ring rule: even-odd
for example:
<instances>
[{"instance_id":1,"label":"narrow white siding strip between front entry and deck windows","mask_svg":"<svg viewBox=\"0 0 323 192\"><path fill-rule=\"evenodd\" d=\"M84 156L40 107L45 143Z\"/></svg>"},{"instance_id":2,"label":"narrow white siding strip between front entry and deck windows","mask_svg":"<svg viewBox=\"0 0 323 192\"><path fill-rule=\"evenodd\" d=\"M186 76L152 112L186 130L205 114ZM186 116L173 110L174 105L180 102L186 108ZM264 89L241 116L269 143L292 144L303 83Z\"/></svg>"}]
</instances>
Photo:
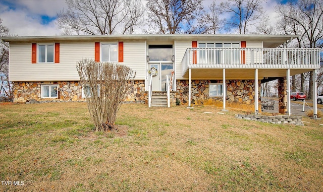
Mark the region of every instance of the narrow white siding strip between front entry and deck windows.
<instances>
[{"instance_id":1,"label":"narrow white siding strip between front entry and deck windows","mask_svg":"<svg viewBox=\"0 0 323 192\"><path fill-rule=\"evenodd\" d=\"M175 72L176 79L186 79L182 77L182 59L187 48L192 47L192 41L176 41L175 42Z\"/></svg>"}]
</instances>

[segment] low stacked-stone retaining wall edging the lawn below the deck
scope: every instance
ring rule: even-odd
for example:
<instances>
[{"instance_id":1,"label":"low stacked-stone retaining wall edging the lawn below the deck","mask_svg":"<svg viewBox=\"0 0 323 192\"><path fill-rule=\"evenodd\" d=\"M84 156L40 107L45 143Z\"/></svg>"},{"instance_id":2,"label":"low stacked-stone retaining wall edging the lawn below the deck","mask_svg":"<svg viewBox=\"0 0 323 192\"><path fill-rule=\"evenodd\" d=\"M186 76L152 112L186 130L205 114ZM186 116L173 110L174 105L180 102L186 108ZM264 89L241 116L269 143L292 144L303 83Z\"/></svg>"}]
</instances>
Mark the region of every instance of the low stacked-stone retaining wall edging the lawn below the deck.
<instances>
[{"instance_id":1,"label":"low stacked-stone retaining wall edging the lawn below the deck","mask_svg":"<svg viewBox=\"0 0 323 192\"><path fill-rule=\"evenodd\" d=\"M240 119L246 120L256 120L260 122L269 122L274 124L296 124L296 125L304 125L302 122L302 116L295 115L277 115L277 116L264 116L264 115L241 115L238 114L236 116Z\"/></svg>"}]
</instances>

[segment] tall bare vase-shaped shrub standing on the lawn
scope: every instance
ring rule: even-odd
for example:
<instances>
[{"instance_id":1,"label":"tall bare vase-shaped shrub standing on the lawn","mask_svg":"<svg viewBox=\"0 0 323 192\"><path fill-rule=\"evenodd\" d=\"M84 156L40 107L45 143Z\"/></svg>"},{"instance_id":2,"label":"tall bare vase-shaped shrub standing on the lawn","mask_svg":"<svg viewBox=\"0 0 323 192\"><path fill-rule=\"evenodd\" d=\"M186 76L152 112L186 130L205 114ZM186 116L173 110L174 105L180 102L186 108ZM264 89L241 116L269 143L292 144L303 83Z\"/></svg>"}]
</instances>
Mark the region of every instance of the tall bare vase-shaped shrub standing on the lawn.
<instances>
[{"instance_id":1,"label":"tall bare vase-shaped shrub standing on the lawn","mask_svg":"<svg viewBox=\"0 0 323 192\"><path fill-rule=\"evenodd\" d=\"M83 59L77 62L95 131L116 129L117 112L136 73L127 66Z\"/></svg>"}]
</instances>

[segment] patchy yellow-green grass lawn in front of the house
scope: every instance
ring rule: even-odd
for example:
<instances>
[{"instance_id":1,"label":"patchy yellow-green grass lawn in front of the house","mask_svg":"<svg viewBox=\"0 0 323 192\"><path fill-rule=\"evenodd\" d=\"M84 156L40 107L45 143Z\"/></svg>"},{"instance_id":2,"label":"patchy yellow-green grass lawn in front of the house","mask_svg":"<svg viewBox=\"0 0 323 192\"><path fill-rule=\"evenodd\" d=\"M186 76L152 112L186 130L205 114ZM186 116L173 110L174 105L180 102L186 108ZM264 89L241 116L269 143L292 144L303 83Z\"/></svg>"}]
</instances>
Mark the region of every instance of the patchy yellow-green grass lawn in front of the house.
<instances>
[{"instance_id":1,"label":"patchy yellow-green grass lawn in front of the house","mask_svg":"<svg viewBox=\"0 0 323 192\"><path fill-rule=\"evenodd\" d=\"M94 133L86 103L0 105L0 191L323 191L322 120L219 111L124 104Z\"/></svg>"}]
</instances>

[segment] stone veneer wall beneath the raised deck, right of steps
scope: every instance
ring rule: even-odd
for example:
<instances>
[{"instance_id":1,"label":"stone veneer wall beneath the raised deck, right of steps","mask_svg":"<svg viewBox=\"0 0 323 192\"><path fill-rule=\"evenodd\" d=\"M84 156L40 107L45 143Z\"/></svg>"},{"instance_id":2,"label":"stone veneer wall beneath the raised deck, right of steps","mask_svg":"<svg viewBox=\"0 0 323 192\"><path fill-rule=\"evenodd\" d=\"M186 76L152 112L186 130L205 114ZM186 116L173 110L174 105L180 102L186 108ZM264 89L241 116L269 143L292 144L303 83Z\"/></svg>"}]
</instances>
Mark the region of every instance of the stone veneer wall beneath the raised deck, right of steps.
<instances>
[{"instance_id":1,"label":"stone veneer wall beneath the raised deck, right of steps","mask_svg":"<svg viewBox=\"0 0 323 192\"><path fill-rule=\"evenodd\" d=\"M223 106L223 97L209 97L210 83L223 83L221 80L192 80L191 105ZM188 80L178 80L177 99L188 104ZM226 106L232 108L254 109L254 80L227 80ZM258 84L259 86L259 84ZM260 88L258 89L260 90ZM260 92L258 93L260 95ZM258 107L260 108L260 107Z\"/></svg>"}]
</instances>

